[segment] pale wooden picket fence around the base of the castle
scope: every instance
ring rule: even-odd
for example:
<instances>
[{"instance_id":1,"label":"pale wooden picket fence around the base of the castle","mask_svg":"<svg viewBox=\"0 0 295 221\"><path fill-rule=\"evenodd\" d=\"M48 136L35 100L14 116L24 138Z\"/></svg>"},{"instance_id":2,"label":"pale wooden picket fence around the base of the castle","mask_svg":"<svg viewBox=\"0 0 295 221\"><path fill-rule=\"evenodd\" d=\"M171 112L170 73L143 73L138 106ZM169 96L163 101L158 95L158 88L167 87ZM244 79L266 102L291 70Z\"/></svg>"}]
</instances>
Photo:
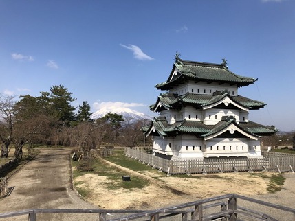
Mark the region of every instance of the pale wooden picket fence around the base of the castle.
<instances>
[{"instance_id":1,"label":"pale wooden picket fence around the base of the castle","mask_svg":"<svg viewBox=\"0 0 295 221\"><path fill-rule=\"evenodd\" d=\"M144 149L125 148L126 156L170 174L274 171L294 172L295 154L262 151L263 158L208 158L168 160L147 154Z\"/></svg>"}]
</instances>

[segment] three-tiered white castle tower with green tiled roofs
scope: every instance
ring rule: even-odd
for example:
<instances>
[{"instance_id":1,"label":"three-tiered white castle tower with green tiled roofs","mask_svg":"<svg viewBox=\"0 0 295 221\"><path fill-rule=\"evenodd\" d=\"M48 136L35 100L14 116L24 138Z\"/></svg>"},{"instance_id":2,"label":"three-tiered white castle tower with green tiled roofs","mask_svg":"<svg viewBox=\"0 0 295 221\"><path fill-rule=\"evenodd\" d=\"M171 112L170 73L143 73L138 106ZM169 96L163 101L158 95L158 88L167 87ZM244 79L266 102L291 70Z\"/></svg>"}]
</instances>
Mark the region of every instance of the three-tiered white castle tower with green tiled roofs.
<instances>
[{"instance_id":1,"label":"three-tiered white castle tower with green tiled roofs","mask_svg":"<svg viewBox=\"0 0 295 221\"><path fill-rule=\"evenodd\" d=\"M182 60L175 63L166 82L156 88L165 93L150 106L154 117L144 135L153 136L153 154L165 159L208 157L262 157L259 137L276 128L250 121L249 111L265 104L238 94L256 79L232 73L221 64Z\"/></svg>"}]
</instances>

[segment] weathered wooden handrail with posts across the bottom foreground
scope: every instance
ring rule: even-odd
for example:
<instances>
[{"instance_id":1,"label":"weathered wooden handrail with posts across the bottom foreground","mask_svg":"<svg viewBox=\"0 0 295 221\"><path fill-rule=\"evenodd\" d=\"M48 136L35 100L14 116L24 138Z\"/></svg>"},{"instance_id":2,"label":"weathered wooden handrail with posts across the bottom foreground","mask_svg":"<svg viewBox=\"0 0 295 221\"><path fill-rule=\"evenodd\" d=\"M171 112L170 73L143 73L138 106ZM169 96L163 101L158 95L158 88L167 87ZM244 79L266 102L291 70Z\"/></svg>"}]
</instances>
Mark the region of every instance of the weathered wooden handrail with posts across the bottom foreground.
<instances>
[{"instance_id":1,"label":"weathered wooden handrail with posts across the bottom foreground","mask_svg":"<svg viewBox=\"0 0 295 221\"><path fill-rule=\"evenodd\" d=\"M239 199L239 200L237 200ZM221 201L220 201L221 200ZM223 202L227 200L227 202ZM190 214L191 220L205 221L213 218L227 218L228 220L237 220L237 214L243 214L244 216L250 216L258 220L276 220L272 216L269 216L266 213L261 211L255 211L254 209L248 209L245 207L237 206L237 202L240 200L245 200L248 202L254 202L265 207L271 207L280 209L281 211L295 214L295 209L276 205L270 202L264 202L262 200L256 200L254 198L249 198L246 196L241 196L238 194L226 194L222 196L217 196L213 198L206 198L203 200L197 200L194 202L187 202L181 205L175 205L172 207L163 207L155 210L114 210L114 209L25 209L22 211L12 211L8 213L0 213L1 218L8 218L14 216L23 216L28 215L30 221L37 220L37 213L97 213L100 221L107 221L107 213L113 214L126 214L131 213L130 215L120 217L120 218L111 218L108 221L120 221L120 220L137 220L138 218L149 218L149 220L160 220L160 218L175 216L178 214L182 215L181 220L187 221L188 215ZM206 216L203 216L203 210L210 207L220 206L220 211L217 213L212 213ZM193 209L194 208L194 209Z\"/></svg>"}]
</instances>

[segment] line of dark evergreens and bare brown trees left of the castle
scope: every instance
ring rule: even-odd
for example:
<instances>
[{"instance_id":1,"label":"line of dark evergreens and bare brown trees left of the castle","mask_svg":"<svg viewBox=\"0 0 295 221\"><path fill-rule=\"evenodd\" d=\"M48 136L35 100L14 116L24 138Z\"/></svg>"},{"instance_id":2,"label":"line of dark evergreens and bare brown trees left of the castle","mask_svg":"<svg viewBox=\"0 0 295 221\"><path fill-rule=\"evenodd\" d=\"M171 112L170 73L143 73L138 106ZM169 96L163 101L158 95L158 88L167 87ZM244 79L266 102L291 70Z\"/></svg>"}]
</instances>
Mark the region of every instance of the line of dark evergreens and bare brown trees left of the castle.
<instances>
[{"instance_id":1,"label":"line of dark evergreens and bare brown trees left of the castle","mask_svg":"<svg viewBox=\"0 0 295 221\"><path fill-rule=\"evenodd\" d=\"M94 121L90 106L83 101L78 110L72 106L76 98L62 85L52 86L39 96L0 95L1 157L8 157L14 147L14 156L21 158L23 146L44 144L97 148L102 143L138 146L143 142L140 128L149 122L122 124L122 115L108 113Z\"/></svg>"}]
</instances>

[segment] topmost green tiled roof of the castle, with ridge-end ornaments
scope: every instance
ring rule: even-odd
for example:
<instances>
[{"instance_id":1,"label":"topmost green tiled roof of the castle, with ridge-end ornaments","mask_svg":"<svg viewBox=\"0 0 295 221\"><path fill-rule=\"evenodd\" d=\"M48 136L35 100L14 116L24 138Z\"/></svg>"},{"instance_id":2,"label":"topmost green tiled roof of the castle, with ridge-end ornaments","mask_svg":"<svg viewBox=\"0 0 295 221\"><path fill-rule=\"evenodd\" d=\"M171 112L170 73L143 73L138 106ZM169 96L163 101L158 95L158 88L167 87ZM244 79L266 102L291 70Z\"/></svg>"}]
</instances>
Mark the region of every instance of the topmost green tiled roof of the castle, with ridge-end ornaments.
<instances>
[{"instance_id":1,"label":"topmost green tiled roof of the castle, with ridge-end ornaments","mask_svg":"<svg viewBox=\"0 0 295 221\"><path fill-rule=\"evenodd\" d=\"M175 69L180 71L176 76L173 75ZM177 59L166 82L156 85L157 89L167 90L173 88L175 84L185 80L195 80L204 82L221 82L237 84L237 86L247 86L256 80L232 73L225 65L212 64L206 62L194 62Z\"/></svg>"}]
</instances>

